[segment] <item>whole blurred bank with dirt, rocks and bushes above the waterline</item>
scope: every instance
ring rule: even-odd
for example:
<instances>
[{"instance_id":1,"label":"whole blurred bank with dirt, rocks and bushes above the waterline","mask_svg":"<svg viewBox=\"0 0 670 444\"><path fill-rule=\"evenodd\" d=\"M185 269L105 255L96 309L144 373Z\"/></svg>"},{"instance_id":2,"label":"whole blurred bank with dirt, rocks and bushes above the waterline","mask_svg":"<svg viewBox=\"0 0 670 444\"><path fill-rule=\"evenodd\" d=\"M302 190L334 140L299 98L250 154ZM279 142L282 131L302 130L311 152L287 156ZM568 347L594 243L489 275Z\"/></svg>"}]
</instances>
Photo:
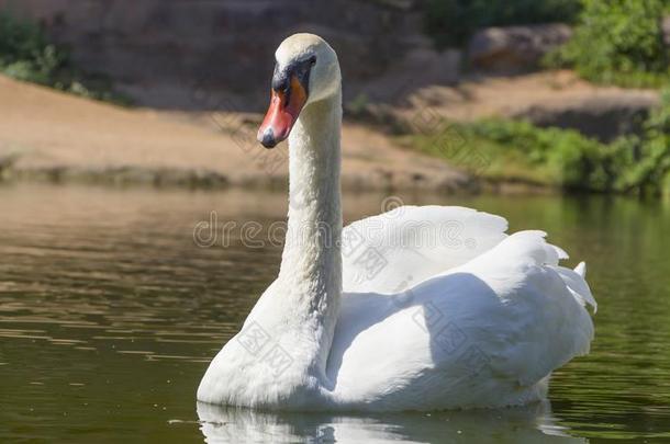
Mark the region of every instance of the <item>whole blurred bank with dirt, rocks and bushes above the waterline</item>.
<instances>
[{"instance_id":1,"label":"whole blurred bank with dirt, rocks and bushes above the waterline","mask_svg":"<svg viewBox=\"0 0 670 444\"><path fill-rule=\"evenodd\" d=\"M286 152L260 156L253 136L273 50L313 32L343 66L345 186L667 194L669 9L1 0L2 177L281 183Z\"/></svg>"}]
</instances>

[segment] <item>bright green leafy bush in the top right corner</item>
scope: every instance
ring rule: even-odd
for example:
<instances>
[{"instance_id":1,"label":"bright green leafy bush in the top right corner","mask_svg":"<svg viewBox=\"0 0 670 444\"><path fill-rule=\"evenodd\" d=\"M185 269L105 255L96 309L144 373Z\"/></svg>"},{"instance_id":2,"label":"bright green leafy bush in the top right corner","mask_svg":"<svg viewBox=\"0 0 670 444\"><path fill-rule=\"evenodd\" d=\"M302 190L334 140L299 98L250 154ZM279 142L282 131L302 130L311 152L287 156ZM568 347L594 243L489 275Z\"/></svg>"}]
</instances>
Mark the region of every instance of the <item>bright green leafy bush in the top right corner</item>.
<instances>
[{"instance_id":1,"label":"bright green leafy bush in the top right corner","mask_svg":"<svg viewBox=\"0 0 670 444\"><path fill-rule=\"evenodd\" d=\"M582 0L574 36L547 58L585 79L623 87L670 83L670 50L663 44L663 0Z\"/></svg>"}]
</instances>

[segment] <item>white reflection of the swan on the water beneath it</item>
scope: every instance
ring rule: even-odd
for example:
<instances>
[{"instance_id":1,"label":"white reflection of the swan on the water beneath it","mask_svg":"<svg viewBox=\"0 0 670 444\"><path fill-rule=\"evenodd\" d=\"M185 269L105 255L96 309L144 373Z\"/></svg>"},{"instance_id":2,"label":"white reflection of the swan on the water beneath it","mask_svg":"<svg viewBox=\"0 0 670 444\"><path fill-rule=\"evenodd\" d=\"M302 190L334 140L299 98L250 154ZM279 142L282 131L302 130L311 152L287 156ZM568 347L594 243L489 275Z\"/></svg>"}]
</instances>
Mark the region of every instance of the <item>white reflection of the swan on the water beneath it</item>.
<instances>
[{"instance_id":1,"label":"white reflection of the swan on the water beneath it","mask_svg":"<svg viewBox=\"0 0 670 444\"><path fill-rule=\"evenodd\" d=\"M548 401L503 410L339 415L198 403L208 443L583 443L556 425Z\"/></svg>"}]
</instances>

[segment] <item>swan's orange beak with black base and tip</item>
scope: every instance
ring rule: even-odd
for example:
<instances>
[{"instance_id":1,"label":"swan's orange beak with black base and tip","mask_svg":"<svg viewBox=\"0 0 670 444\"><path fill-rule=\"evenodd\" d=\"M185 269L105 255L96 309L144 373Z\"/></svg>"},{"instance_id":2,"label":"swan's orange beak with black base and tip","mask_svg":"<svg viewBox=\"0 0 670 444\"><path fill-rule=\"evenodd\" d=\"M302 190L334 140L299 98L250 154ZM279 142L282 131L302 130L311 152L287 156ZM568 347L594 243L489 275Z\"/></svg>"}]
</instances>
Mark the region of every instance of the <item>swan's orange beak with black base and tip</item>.
<instances>
[{"instance_id":1,"label":"swan's orange beak with black base and tip","mask_svg":"<svg viewBox=\"0 0 670 444\"><path fill-rule=\"evenodd\" d=\"M258 141L266 148L289 137L300 111L308 101L308 92L295 76L291 76L288 88L272 89L270 107L258 129Z\"/></svg>"}]
</instances>

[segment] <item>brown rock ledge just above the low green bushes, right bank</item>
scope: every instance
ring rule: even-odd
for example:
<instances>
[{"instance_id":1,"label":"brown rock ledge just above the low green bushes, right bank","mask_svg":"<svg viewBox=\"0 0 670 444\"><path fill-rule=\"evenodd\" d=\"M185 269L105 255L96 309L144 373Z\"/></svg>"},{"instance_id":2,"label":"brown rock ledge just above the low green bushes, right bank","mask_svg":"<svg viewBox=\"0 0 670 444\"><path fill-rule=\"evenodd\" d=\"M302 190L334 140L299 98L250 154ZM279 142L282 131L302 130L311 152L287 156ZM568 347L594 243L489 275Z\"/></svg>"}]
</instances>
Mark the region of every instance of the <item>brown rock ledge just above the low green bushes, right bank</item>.
<instances>
[{"instance_id":1,"label":"brown rock ledge just above the low green bushes, right bank","mask_svg":"<svg viewBox=\"0 0 670 444\"><path fill-rule=\"evenodd\" d=\"M576 129L608 143L625 134L640 134L643 121L658 104L655 91L616 89L590 98L535 104L514 117L527 118L538 126Z\"/></svg>"}]
</instances>

